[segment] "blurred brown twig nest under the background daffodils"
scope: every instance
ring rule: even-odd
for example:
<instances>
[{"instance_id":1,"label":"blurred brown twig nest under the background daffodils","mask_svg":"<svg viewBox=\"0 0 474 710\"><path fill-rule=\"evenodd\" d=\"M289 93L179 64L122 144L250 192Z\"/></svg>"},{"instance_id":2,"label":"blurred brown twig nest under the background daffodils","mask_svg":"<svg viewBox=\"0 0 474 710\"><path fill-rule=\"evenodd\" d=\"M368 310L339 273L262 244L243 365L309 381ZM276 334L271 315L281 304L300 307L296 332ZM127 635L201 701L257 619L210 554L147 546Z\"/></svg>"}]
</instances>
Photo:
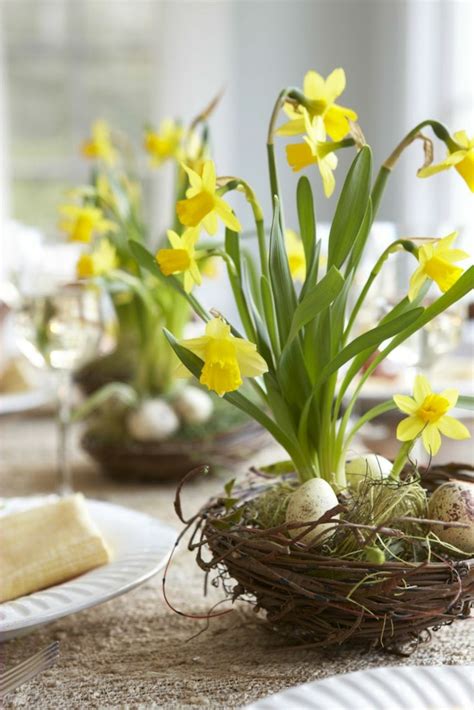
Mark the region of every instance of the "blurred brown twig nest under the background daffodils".
<instances>
[{"instance_id":1,"label":"blurred brown twig nest under the background daffodils","mask_svg":"<svg viewBox=\"0 0 474 710\"><path fill-rule=\"evenodd\" d=\"M266 431L250 421L204 439L110 442L92 432L82 438L85 451L109 478L129 483L179 481L190 468L205 464L229 467L252 457L268 442Z\"/></svg>"}]
</instances>

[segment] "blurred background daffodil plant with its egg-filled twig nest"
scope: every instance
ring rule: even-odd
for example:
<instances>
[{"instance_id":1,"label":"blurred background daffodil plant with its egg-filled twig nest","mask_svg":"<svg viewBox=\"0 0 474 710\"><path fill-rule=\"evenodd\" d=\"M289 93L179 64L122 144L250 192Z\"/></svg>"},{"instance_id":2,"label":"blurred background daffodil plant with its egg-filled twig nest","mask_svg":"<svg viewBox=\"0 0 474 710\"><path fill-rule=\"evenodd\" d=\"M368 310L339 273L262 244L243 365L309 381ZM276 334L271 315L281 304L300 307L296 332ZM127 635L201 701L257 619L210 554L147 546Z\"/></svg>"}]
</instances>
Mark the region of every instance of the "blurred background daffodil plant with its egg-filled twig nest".
<instances>
[{"instance_id":1,"label":"blurred background daffodil plant with its egg-filled twig nest","mask_svg":"<svg viewBox=\"0 0 474 710\"><path fill-rule=\"evenodd\" d=\"M209 157L207 118L214 104L188 128L165 120L158 130L145 129L152 167L174 163L178 198L188 188L186 171L199 171ZM183 337L192 327L191 306L166 280L142 274L130 252L131 239L149 248L154 244L130 141L98 121L82 152L94 161L91 184L76 189L74 203L60 209L60 227L84 245L77 277L103 287L117 314L115 350L77 373L90 395L76 413L88 418L83 446L106 473L126 480L178 478L202 461L239 460L261 446L265 432L246 414L177 376L179 361L164 329ZM181 246L191 250L194 243L177 220L171 224L167 236L157 240L163 244L164 271L167 253L174 255ZM193 261L184 292L214 269L212 258L200 259L199 265Z\"/></svg>"}]
</instances>

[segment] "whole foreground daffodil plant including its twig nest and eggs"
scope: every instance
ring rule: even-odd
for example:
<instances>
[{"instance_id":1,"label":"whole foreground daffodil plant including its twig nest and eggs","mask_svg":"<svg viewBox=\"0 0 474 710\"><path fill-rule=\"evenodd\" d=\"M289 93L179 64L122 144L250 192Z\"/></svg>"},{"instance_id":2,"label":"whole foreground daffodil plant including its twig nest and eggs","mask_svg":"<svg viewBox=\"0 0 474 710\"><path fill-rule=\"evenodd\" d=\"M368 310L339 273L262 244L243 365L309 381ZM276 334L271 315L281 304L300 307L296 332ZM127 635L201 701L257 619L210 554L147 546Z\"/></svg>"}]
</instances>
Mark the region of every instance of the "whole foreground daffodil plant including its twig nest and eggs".
<instances>
[{"instance_id":1,"label":"whole foreground daffodil plant including its twig nest and eggs","mask_svg":"<svg viewBox=\"0 0 474 710\"><path fill-rule=\"evenodd\" d=\"M197 550L200 566L216 574L229 599L253 601L274 627L302 641L390 647L465 617L472 602L472 474L456 466L423 471L413 455L418 439L434 456L443 437L467 438L452 410L472 402L453 389L438 391L419 375L412 397L394 393L359 418L356 404L384 358L470 292L474 269L463 268L468 255L456 246L455 233L399 238L385 249L369 249L368 237L405 149L423 145L420 178L450 170L472 191L474 144L463 131L451 134L438 121L423 121L373 179L372 152L357 115L338 102L345 81L342 69L327 78L309 71L303 89L279 94L267 138L273 203L267 227L250 184L219 177L214 162L205 160L198 171L183 166L190 186L176 204L182 242L156 258L138 242L130 248L137 263L168 279L203 321L202 335L192 339L166 331L183 373L253 417L287 452L287 460L254 471L249 481L229 482L185 521L195 528L190 549ZM335 188L340 151L353 152L324 259L304 174L296 190L299 237L287 233L275 158L280 137L288 141L289 166L295 172L316 168L326 197ZM434 163L439 146L447 157ZM231 191L243 196L242 209L250 209L255 221L257 278L242 258L240 208L236 214L230 208ZM204 248L219 223L224 248ZM406 295L356 334L374 282L401 251L413 263ZM186 292L192 270L210 256L227 268L239 324L219 309L208 312L197 285ZM360 287L363 257L372 258L373 268ZM437 293L428 300L430 288ZM242 389L244 380L256 399ZM367 422L397 409L406 416L394 461L349 455ZM176 508L181 510L179 500Z\"/></svg>"}]
</instances>

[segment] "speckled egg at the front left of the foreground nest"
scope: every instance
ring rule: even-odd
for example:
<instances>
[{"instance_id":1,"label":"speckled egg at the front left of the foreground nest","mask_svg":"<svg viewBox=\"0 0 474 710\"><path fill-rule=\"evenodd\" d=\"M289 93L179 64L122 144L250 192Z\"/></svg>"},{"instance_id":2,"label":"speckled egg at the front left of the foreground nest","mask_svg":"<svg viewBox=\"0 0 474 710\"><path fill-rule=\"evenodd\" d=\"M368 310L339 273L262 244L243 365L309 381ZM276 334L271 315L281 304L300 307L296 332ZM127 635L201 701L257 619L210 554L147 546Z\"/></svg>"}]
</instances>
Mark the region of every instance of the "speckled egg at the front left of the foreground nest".
<instances>
[{"instance_id":1,"label":"speckled egg at the front left of the foreground nest","mask_svg":"<svg viewBox=\"0 0 474 710\"><path fill-rule=\"evenodd\" d=\"M311 478L303 483L291 494L286 511L287 523L310 523L327 513L338 504L337 496L327 481L323 478ZM339 517L339 516L335 516ZM334 522L320 523L310 530L302 541L306 544L313 542L324 530L328 532L319 537L322 542L329 534L329 528L334 529ZM297 537L304 531L304 528L292 528L289 530L291 537Z\"/></svg>"}]
</instances>

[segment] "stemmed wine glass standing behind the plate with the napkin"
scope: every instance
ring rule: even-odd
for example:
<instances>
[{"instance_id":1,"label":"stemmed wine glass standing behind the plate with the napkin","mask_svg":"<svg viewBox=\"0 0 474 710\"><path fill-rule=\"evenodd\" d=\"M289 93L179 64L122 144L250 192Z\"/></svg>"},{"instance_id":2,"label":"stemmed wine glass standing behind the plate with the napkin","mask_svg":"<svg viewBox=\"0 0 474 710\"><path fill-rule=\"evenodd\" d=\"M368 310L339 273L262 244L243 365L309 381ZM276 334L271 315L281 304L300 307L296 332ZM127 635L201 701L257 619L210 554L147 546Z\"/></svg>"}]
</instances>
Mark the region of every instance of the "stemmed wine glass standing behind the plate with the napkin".
<instances>
[{"instance_id":1,"label":"stemmed wine glass standing behind the plate with the napkin","mask_svg":"<svg viewBox=\"0 0 474 710\"><path fill-rule=\"evenodd\" d=\"M106 334L105 294L95 284L53 283L19 293L14 331L21 352L38 367L55 372L57 385L59 494L72 492L69 457L74 370L101 350ZM107 348L108 349L108 348Z\"/></svg>"}]
</instances>

